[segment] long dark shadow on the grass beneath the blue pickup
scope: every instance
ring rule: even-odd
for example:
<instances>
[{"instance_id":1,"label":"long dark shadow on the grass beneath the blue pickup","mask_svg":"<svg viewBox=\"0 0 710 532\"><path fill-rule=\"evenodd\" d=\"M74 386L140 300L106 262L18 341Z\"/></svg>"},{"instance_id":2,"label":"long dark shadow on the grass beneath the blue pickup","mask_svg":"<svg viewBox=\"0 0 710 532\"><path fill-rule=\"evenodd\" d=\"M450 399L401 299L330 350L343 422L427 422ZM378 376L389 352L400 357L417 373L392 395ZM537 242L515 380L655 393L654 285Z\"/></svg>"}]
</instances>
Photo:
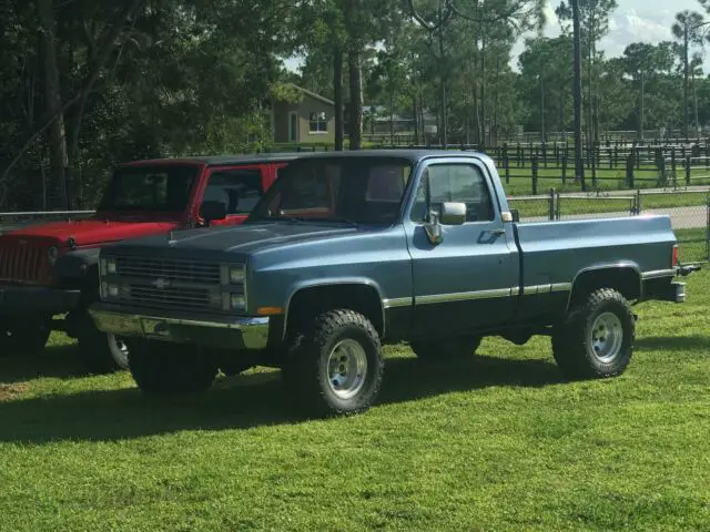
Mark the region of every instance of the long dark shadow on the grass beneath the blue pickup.
<instances>
[{"instance_id":1,"label":"long dark shadow on the grass beneath the blue pickup","mask_svg":"<svg viewBox=\"0 0 710 532\"><path fill-rule=\"evenodd\" d=\"M412 401L490 386L559 382L555 365L485 356L456 364L388 359L378 403ZM206 393L151 398L140 390L85 391L0 402L0 441L113 441L180 430L248 429L304 421L291 413L278 372L220 379Z\"/></svg>"}]
</instances>

